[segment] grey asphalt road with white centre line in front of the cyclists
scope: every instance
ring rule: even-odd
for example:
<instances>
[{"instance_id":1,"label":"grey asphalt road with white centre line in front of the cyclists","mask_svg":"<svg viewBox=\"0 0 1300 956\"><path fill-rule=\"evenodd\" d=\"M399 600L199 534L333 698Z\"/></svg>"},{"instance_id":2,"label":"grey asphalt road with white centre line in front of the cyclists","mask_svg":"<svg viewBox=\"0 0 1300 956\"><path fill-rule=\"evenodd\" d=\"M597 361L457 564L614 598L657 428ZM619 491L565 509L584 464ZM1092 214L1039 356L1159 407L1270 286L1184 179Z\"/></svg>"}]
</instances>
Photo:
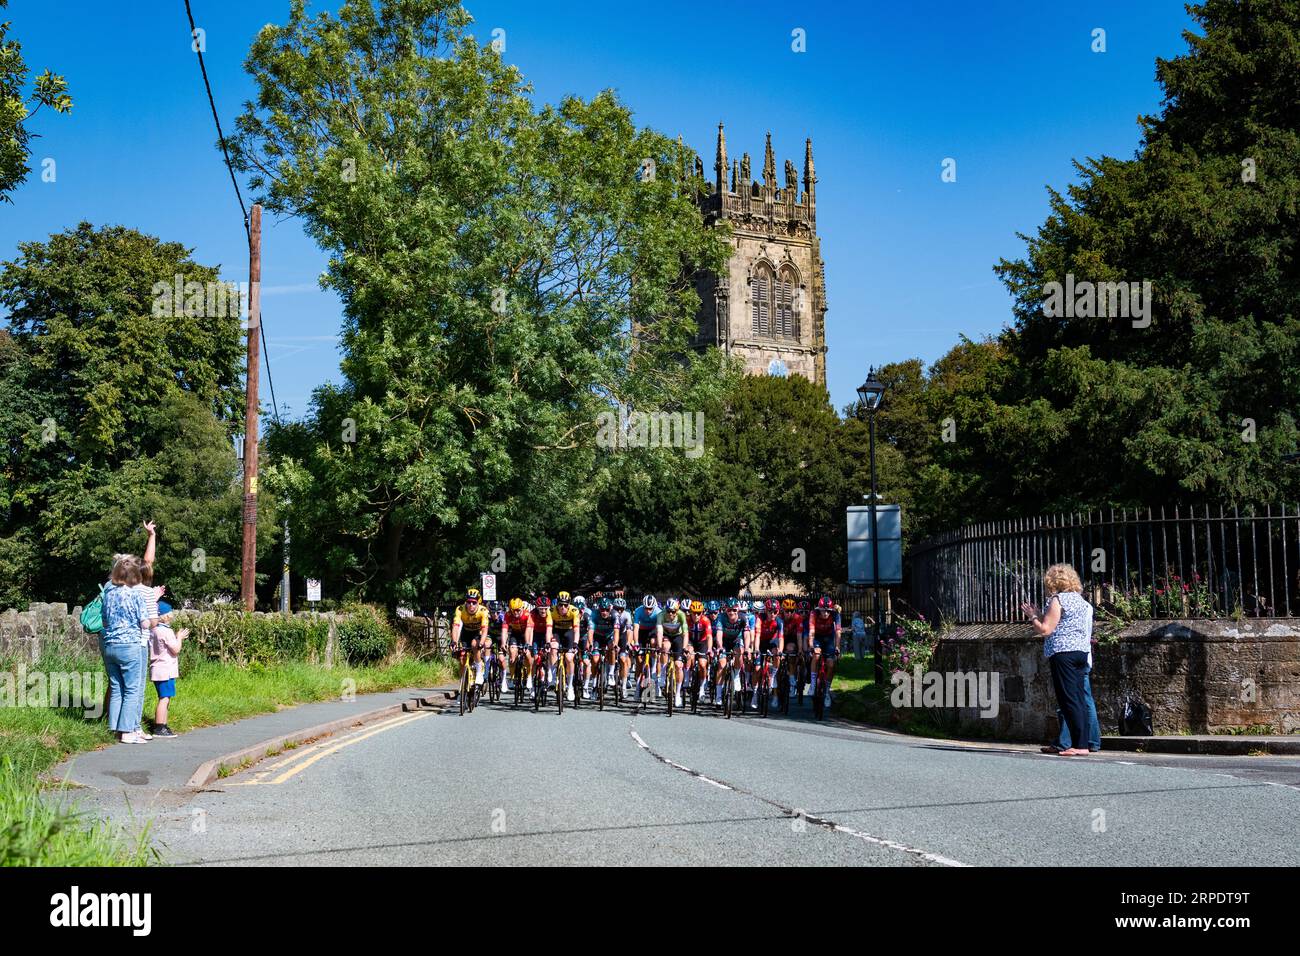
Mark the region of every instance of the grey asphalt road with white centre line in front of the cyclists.
<instances>
[{"instance_id":1,"label":"grey asphalt road with white centre line in front of the cyclists","mask_svg":"<svg viewBox=\"0 0 1300 956\"><path fill-rule=\"evenodd\" d=\"M174 864L1300 864L1300 760L1070 760L806 714L410 714L133 812Z\"/></svg>"}]
</instances>

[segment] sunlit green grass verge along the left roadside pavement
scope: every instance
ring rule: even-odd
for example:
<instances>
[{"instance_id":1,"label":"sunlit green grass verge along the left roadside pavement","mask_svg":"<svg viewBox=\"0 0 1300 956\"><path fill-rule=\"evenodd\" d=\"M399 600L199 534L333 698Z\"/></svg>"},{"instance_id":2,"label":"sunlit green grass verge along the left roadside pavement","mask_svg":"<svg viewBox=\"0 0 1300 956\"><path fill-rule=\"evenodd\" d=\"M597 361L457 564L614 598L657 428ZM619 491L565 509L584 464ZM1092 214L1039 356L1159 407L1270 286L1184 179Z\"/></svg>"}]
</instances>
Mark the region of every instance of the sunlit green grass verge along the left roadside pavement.
<instances>
[{"instance_id":1,"label":"sunlit green grass verge along the left roadside pavement","mask_svg":"<svg viewBox=\"0 0 1300 956\"><path fill-rule=\"evenodd\" d=\"M0 662L0 670L13 672L16 665ZM35 671L99 674L103 663L99 657L56 653L27 667L29 674ZM451 667L441 661L399 659L333 670L295 662L239 667L183 661L168 724L183 734L344 693L450 682ZM157 693L152 683L147 684L146 726L156 704ZM66 788L58 787L51 799L42 782L42 774L66 757L114 740L104 718L87 719L79 706L0 706L0 865L140 866L156 860L147 830L129 836L109 823L86 818Z\"/></svg>"}]
</instances>

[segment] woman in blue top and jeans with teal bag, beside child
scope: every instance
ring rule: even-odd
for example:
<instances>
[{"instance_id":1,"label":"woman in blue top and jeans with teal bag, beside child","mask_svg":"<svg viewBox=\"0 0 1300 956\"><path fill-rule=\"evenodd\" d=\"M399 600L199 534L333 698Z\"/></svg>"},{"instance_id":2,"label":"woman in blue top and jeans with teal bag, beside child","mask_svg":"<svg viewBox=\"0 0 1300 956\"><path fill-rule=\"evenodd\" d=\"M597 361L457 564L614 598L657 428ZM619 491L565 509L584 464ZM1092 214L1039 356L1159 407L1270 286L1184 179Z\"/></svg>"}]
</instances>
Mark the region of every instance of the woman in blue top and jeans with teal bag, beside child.
<instances>
[{"instance_id":1,"label":"woman in blue top and jeans with teal bag, beside child","mask_svg":"<svg viewBox=\"0 0 1300 956\"><path fill-rule=\"evenodd\" d=\"M144 706L146 669L140 659L140 631L157 624L150 618L140 583L140 559L134 554L113 557L113 575L104 588L104 630L100 653L108 670L108 726L124 744L143 744L138 732Z\"/></svg>"}]
</instances>

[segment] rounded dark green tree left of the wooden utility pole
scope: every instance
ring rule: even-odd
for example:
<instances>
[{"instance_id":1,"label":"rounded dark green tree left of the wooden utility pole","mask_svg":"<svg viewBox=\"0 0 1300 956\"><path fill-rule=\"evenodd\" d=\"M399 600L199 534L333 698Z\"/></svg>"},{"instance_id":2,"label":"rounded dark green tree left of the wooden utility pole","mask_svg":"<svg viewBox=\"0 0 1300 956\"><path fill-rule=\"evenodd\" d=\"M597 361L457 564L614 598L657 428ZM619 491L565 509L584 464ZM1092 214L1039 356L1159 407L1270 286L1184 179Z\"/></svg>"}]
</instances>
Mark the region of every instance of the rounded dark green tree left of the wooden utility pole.
<instances>
[{"instance_id":1,"label":"rounded dark green tree left of the wooden utility pole","mask_svg":"<svg viewBox=\"0 0 1300 956\"><path fill-rule=\"evenodd\" d=\"M84 600L114 551L143 548L146 519L177 597L234 587L238 298L162 307L178 277L218 281L179 243L84 222L0 264L5 604Z\"/></svg>"}]
</instances>

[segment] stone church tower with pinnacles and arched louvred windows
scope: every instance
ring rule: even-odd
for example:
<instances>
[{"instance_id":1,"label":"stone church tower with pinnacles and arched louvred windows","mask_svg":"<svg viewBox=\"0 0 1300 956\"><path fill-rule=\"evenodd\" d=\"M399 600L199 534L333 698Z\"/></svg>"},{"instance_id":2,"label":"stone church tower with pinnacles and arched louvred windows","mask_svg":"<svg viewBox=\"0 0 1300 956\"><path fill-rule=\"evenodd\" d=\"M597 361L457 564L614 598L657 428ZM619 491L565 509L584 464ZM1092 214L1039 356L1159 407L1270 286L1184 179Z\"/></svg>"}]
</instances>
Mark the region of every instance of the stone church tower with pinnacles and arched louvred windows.
<instances>
[{"instance_id":1,"label":"stone church tower with pinnacles and arched louvred windows","mask_svg":"<svg viewBox=\"0 0 1300 956\"><path fill-rule=\"evenodd\" d=\"M803 147L802 196L789 160L784 185L776 179L771 133L759 183L750 178L749 153L727 168L727 139L718 124L714 173L701 211L708 225L731 225L732 256L725 276L697 276L697 345L738 355L753 375L802 375L826 385L826 264L816 235L812 140Z\"/></svg>"}]
</instances>

